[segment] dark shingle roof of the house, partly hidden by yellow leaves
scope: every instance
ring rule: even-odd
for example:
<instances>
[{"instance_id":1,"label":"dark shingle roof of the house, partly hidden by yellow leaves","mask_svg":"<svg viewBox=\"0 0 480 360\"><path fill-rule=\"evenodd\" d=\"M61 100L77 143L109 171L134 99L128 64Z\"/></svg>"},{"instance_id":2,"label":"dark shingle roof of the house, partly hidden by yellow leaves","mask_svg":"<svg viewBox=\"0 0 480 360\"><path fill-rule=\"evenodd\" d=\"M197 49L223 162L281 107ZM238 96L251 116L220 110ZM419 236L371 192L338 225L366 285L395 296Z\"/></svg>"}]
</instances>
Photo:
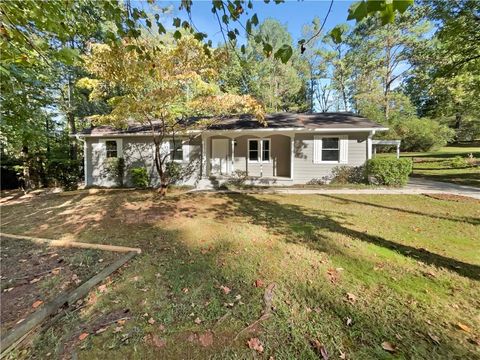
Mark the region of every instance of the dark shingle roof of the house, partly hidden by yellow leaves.
<instances>
[{"instance_id":1,"label":"dark shingle roof of the house, partly hidden by yellow leaves","mask_svg":"<svg viewBox=\"0 0 480 360\"><path fill-rule=\"evenodd\" d=\"M259 123L250 115L224 116L214 118L210 130L254 130L254 129L362 129L362 128L384 128L367 118L355 115L350 112L328 112L328 113L276 113L265 116L266 126ZM195 121L195 119L191 119ZM150 128L147 125L130 124L125 129L115 129L111 126L98 126L85 129L84 135L105 135L105 134L131 134L148 133Z\"/></svg>"}]
</instances>

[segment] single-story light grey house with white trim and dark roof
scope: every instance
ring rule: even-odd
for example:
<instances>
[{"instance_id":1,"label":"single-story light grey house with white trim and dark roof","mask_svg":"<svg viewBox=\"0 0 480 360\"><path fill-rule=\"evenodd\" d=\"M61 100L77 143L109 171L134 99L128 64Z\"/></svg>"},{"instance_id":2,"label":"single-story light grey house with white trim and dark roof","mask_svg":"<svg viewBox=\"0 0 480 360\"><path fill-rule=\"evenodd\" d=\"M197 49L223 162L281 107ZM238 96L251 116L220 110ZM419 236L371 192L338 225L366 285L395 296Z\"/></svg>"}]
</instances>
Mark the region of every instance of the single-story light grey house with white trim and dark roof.
<instances>
[{"instance_id":1,"label":"single-story light grey house with white trim and dark roof","mask_svg":"<svg viewBox=\"0 0 480 360\"><path fill-rule=\"evenodd\" d=\"M328 177L336 166L359 166L372 157L372 137L388 130L348 112L277 113L266 116L266 126L248 115L219 118L207 130L189 134L173 161L190 166L184 184L206 187L244 172L252 184L307 184ZM193 132L195 130L192 130ZM145 167L150 185L158 185L154 144L146 126L126 129L93 127L77 136L84 142L85 185L114 186L105 175L109 157L122 157L125 182L129 169ZM162 147L169 151L172 145Z\"/></svg>"}]
</instances>

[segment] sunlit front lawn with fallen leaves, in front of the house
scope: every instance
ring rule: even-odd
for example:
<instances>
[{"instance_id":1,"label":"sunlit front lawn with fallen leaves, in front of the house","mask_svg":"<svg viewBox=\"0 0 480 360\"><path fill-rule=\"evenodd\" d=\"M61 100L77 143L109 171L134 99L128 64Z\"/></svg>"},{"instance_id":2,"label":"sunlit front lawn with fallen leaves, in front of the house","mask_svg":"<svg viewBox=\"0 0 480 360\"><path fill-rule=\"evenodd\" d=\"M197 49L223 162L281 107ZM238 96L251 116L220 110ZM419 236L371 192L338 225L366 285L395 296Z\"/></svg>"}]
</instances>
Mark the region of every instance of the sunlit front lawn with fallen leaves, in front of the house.
<instances>
[{"instance_id":1,"label":"sunlit front lawn with fallen leaves, in front of the house","mask_svg":"<svg viewBox=\"0 0 480 360\"><path fill-rule=\"evenodd\" d=\"M316 359L313 340L332 359L480 359L479 218L420 195L78 191L7 202L2 231L143 249L25 356L251 358L258 337L275 359ZM262 314L256 280L273 315L236 339Z\"/></svg>"}]
</instances>

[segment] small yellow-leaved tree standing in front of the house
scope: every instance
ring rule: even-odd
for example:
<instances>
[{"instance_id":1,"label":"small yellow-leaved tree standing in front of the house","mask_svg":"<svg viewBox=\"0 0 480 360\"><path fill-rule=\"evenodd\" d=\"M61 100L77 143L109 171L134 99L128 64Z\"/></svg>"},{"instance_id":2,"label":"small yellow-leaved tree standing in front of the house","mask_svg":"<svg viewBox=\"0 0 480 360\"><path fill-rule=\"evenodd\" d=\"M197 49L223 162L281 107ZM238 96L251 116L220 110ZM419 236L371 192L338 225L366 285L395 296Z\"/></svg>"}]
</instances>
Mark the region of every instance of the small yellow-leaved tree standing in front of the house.
<instances>
[{"instance_id":1,"label":"small yellow-leaved tree standing in front of the house","mask_svg":"<svg viewBox=\"0 0 480 360\"><path fill-rule=\"evenodd\" d=\"M132 41L142 48L142 54L129 51ZM173 178L171 153L162 147L167 139L172 139L174 152L181 146L181 138L198 136L191 130L208 128L214 122L212 115L241 112L263 121L263 108L251 96L220 91L216 81L226 55L221 50L207 55L203 45L190 36L177 41L167 36L161 40L125 39L118 45L94 44L91 55L85 57L93 78L81 83L90 87L92 98L113 94L108 99L112 111L92 120L117 127L127 121L148 126L161 194Z\"/></svg>"}]
</instances>

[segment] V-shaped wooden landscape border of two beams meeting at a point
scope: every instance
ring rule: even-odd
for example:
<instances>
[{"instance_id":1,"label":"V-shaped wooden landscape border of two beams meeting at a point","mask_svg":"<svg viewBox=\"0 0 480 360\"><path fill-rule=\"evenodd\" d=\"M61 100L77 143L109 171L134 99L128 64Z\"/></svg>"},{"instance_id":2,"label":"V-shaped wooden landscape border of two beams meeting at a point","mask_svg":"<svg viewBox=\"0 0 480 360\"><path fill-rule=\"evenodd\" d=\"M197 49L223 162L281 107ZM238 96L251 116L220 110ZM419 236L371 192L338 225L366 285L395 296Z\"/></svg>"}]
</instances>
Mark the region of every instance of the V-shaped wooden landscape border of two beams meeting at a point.
<instances>
[{"instance_id":1,"label":"V-shaped wooden landscape border of two beams meeting at a point","mask_svg":"<svg viewBox=\"0 0 480 360\"><path fill-rule=\"evenodd\" d=\"M81 242L67 242L63 240L51 240L34 238L30 236L21 236L13 234L0 233L0 238L13 238L21 240L31 240L36 243L46 243L51 246L75 247L82 249L97 249L126 253L121 258L107 266L98 274L85 281L82 285L72 290L58 295L51 302L40 307L37 311L27 316L17 327L8 331L5 336L0 339L1 354L0 359L3 359L10 351L15 349L29 334L31 334L43 321L54 315L60 308L66 308L71 304L75 304L79 299L85 297L90 289L95 285L101 283L107 276L118 270L127 261L132 259L137 254L141 253L139 248L129 248L125 246L113 246L103 244L88 244Z\"/></svg>"}]
</instances>

